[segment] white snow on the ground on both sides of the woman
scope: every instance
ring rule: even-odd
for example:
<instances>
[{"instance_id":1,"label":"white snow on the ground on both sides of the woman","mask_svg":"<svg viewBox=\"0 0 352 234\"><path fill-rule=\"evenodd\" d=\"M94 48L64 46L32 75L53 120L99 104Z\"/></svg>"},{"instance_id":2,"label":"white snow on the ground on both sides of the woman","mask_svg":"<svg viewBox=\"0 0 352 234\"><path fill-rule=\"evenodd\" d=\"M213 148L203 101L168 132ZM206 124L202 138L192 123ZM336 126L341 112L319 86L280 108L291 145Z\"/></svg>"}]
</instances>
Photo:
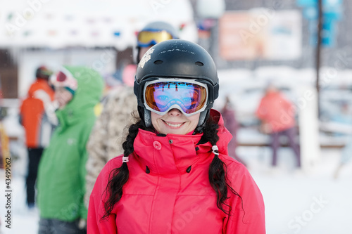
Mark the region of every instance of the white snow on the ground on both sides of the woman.
<instances>
[{"instance_id":1,"label":"white snow on the ground on both sides of the woman","mask_svg":"<svg viewBox=\"0 0 352 234\"><path fill-rule=\"evenodd\" d=\"M277 169L271 169L270 148L239 147L238 154L249 164L249 171L263 193L268 234L349 234L352 233L352 163L338 179L333 178L339 150L322 150L314 173L296 171L289 148L279 149ZM11 229L4 227L6 197L4 170L0 171L0 219L3 233L34 234L39 212L25 208L25 159L13 162Z\"/></svg>"}]
</instances>

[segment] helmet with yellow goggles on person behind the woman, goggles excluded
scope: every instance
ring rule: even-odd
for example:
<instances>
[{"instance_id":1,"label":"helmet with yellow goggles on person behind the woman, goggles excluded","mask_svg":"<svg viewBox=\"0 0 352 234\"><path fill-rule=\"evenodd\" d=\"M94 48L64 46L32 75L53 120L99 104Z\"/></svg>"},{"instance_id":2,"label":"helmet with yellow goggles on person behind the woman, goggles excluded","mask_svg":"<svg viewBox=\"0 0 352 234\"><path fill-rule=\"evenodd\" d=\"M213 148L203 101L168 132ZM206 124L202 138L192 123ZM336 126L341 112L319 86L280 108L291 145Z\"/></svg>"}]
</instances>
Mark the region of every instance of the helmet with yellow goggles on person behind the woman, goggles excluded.
<instances>
[{"instance_id":1,"label":"helmet with yellow goggles on person behind the woman, goggles excluded","mask_svg":"<svg viewBox=\"0 0 352 234\"><path fill-rule=\"evenodd\" d=\"M137 51L134 54L134 58L135 58L135 61L137 61L137 63L139 63L138 55L139 55L139 51L141 50L141 47L143 47L143 46L153 46L153 45L156 44L156 41L151 40L151 43L142 46L139 43L139 41L138 41L139 34L141 34L142 32L163 32L163 31L168 32L172 36L172 39L178 39L179 38L179 34L178 34L177 30L175 29L175 27L170 25L168 22L164 22L164 21L149 22L147 25L145 25L142 28L142 30L140 30L138 32L138 35L137 35Z\"/></svg>"}]
</instances>

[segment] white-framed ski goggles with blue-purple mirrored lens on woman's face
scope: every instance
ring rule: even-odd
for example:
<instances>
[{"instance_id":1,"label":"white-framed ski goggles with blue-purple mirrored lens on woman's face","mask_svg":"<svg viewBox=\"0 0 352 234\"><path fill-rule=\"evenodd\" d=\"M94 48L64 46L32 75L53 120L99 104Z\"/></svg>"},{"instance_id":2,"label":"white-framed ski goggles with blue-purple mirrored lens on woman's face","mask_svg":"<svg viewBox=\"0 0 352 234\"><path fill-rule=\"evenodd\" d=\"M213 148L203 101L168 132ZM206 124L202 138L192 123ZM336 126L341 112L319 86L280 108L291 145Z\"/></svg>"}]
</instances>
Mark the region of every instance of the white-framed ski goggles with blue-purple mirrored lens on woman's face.
<instances>
[{"instance_id":1,"label":"white-framed ski goggles with blue-purple mirrored lens on woman's face","mask_svg":"<svg viewBox=\"0 0 352 234\"><path fill-rule=\"evenodd\" d=\"M189 117L206 110L208 86L194 79L156 79L144 86L144 106L158 115L176 108Z\"/></svg>"}]
</instances>

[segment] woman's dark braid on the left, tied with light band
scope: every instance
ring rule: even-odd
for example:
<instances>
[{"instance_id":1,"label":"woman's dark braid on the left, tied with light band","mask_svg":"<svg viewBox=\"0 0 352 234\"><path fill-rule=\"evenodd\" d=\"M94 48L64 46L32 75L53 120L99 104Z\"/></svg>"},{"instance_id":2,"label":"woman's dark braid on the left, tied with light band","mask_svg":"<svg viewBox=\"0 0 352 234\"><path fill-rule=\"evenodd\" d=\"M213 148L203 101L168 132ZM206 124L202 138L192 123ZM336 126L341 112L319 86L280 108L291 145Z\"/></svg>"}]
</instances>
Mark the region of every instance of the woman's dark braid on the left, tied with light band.
<instances>
[{"instance_id":1,"label":"woman's dark braid on the left, tied with light band","mask_svg":"<svg viewBox=\"0 0 352 234\"><path fill-rule=\"evenodd\" d=\"M134 139L137 137L139 129L146 129L146 126L140 119L136 124L130 126L126 141L122 143L124 157L128 157L134 151L133 143ZM115 168L110 172L108 185L105 190L105 195L108 199L104 204L105 214L101 219L107 218L111 214L116 202L121 199L122 187L128 181L128 177L129 171L126 162L123 162L121 167Z\"/></svg>"}]
</instances>

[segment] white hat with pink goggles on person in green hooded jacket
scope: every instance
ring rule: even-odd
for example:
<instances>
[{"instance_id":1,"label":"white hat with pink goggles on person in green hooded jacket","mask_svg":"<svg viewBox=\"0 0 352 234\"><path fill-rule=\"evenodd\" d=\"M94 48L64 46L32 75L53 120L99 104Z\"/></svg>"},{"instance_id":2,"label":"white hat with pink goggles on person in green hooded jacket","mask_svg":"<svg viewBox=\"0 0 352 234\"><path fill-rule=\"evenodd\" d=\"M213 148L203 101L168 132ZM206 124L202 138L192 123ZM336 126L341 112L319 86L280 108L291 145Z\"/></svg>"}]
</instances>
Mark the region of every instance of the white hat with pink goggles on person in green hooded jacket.
<instances>
[{"instance_id":1,"label":"white hat with pink goggles on person in green hooded jacket","mask_svg":"<svg viewBox=\"0 0 352 234\"><path fill-rule=\"evenodd\" d=\"M64 87L73 95L75 95L75 91L77 90L77 79L65 68L62 68L51 77L51 84L54 87Z\"/></svg>"}]
</instances>

